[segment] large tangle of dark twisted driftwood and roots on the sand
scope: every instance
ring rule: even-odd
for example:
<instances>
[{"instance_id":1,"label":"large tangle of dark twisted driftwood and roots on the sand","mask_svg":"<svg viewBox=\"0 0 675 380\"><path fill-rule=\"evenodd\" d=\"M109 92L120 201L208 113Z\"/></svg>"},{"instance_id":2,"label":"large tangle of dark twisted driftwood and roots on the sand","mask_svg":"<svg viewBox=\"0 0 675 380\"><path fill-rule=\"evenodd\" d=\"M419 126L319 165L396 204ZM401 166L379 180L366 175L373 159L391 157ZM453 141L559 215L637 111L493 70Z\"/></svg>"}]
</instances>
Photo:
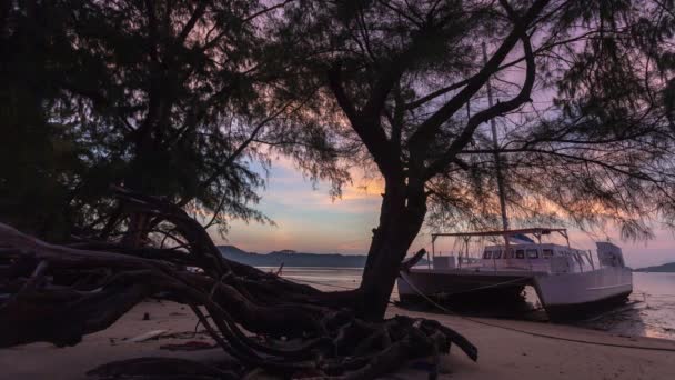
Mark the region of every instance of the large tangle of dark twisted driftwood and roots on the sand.
<instances>
[{"instance_id":1,"label":"large tangle of dark twisted driftwood and roots on the sand","mask_svg":"<svg viewBox=\"0 0 675 380\"><path fill-rule=\"evenodd\" d=\"M360 320L353 312L362 299L359 290L322 292L225 260L182 209L123 189L117 196L155 226L170 224L184 247L90 240L57 246L0 224L0 348L77 344L157 297L188 304L240 366L138 359L103 366L91 376L229 379L256 369L282 377L371 379L407 360L447 353L451 343L477 358L473 344L436 321Z\"/></svg>"}]
</instances>

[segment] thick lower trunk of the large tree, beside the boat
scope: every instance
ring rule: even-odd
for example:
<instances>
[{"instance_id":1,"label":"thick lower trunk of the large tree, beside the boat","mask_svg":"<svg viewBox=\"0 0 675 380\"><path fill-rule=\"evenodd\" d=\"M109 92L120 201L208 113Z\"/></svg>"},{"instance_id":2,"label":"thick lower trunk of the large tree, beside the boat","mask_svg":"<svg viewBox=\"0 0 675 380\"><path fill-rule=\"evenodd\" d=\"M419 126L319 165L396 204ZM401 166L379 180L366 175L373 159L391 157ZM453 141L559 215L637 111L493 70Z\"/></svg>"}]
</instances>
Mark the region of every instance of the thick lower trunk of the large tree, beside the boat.
<instances>
[{"instance_id":1,"label":"thick lower trunk of the large tree, beside the boat","mask_svg":"<svg viewBox=\"0 0 675 380\"><path fill-rule=\"evenodd\" d=\"M426 214L422 187L386 181L380 226L374 230L361 281L360 318L379 321L384 317L401 262L420 232Z\"/></svg>"}]
</instances>

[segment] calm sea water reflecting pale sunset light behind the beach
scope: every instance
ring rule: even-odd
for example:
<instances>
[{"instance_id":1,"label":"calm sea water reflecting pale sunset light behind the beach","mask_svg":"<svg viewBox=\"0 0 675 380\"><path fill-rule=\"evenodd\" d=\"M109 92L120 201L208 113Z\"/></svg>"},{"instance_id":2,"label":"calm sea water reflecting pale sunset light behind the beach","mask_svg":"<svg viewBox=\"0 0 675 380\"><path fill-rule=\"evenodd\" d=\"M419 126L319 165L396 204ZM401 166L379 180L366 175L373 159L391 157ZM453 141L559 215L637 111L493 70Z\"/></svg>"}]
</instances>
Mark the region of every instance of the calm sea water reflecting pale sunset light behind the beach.
<instances>
[{"instance_id":1,"label":"calm sea water reflecting pale sunset light behind the beach","mask_svg":"<svg viewBox=\"0 0 675 380\"><path fill-rule=\"evenodd\" d=\"M282 276L322 290L340 290L356 288L361 281L361 269L345 268L284 268ZM574 324L626 336L675 340L675 273L633 273L633 294L624 306ZM537 311L540 303L536 293L528 288L525 291L526 306L533 312L518 313L515 317L510 314L508 318L545 321L545 314L541 310ZM395 288L392 300L399 300ZM503 313L482 316L504 317Z\"/></svg>"}]
</instances>

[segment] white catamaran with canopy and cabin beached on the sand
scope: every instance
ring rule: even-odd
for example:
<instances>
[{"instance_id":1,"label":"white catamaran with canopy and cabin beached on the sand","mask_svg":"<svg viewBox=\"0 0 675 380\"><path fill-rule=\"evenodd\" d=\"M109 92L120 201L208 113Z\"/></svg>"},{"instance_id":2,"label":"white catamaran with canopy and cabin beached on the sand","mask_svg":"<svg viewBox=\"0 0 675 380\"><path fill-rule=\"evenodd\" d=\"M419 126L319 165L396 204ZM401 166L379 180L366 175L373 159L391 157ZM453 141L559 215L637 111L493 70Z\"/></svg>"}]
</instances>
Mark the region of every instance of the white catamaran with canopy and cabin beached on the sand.
<instances>
[{"instance_id":1,"label":"white catamaran with canopy and cabin beached on the sand","mask_svg":"<svg viewBox=\"0 0 675 380\"><path fill-rule=\"evenodd\" d=\"M560 233L566 244L542 242ZM528 239L533 236L535 239ZM466 252L435 254L440 237L502 240L485 244L477 258ZM591 310L625 300L633 291L633 273L624 263L619 247L596 242L596 252L570 247L565 229L434 233L429 266L412 267L397 279L402 302L433 298L439 301L508 302L522 299L525 286L534 287L552 320L574 319Z\"/></svg>"}]
</instances>

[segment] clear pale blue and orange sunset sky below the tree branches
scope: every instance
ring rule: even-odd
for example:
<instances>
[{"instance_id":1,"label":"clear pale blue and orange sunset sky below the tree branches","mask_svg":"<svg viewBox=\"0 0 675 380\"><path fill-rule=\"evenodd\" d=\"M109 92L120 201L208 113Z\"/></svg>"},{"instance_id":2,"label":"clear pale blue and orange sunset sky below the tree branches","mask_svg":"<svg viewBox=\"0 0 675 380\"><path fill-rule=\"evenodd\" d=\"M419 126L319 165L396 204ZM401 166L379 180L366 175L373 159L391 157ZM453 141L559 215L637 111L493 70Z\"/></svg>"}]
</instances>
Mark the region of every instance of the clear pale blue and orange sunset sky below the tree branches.
<instances>
[{"instance_id":1,"label":"clear pale blue and orange sunset sky below the tree branches","mask_svg":"<svg viewBox=\"0 0 675 380\"><path fill-rule=\"evenodd\" d=\"M365 254L377 227L382 188L377 181L364 180L357 173L340 199L332 199L328 183L312 183L293 164L276 160L269 173L258 209L276 226L234 221L225 239L213 234L220 244L233 244L250 252L266 253L291 249L312 253ZM554 227L554 226L551 226ZM423 228L410 252L431 250L429 230ZM633 268L675 261L675 236L655 228L655 239L646 242L621 241L616 230L592 237L570 230L571 243L580 249L594 249L594 241L611 241L623 248L626 263ZM477 247L475 247L477 248ZM439 241L436 251L456 249L451 241Z\"/></svg>"}]
</instances>

